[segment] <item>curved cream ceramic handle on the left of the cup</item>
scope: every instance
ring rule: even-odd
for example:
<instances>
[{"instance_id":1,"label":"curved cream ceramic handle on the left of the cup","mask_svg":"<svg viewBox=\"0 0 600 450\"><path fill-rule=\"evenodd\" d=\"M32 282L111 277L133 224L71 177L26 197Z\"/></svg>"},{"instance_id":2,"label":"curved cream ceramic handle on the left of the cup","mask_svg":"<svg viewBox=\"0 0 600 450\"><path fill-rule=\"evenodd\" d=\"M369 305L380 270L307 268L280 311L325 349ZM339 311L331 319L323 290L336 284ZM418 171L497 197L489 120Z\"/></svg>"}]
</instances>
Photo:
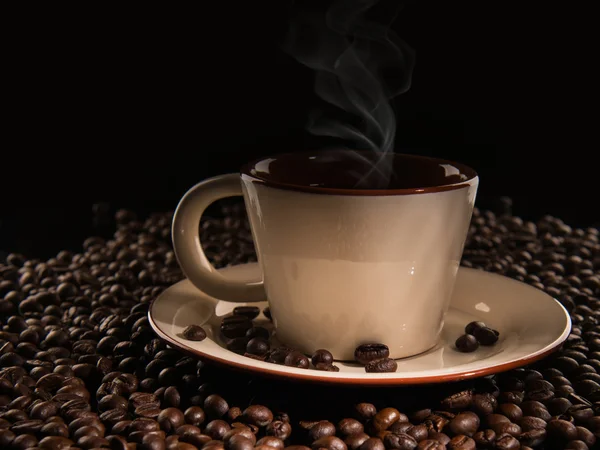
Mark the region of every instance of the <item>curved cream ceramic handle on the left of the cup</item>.
<instances>
[{"instance_id":1,"label":"curved cream ceramic handle on the left of the cup","mask_svg":"<svg viewBox=\"0 0 600 450\"><path fill-rule=\"evenodd\" d=\"M200 219L206 208L237 195L243 195L239 174L209 178L188 190L173 216L173 248L184 275L202 292L228 302L260 302L266 300L263 282L227 279L208 261L200 242Z\"/></svg>"}]
</instances>

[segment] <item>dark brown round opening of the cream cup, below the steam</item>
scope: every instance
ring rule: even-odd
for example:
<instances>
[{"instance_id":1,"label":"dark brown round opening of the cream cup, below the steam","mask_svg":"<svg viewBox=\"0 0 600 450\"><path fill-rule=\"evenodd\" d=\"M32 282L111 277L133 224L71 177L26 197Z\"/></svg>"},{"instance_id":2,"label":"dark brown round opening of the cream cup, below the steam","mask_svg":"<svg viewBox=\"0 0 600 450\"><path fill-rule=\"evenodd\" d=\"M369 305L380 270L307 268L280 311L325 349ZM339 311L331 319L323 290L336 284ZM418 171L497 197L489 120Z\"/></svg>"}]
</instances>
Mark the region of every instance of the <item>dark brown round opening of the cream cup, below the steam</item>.
<instances>
[{"instance_id":1,"label":"dark brown round opening of the cream cup, below the steam","mask_svg":"<svg viewBox=\"0 0 600 450\"><path fill-rule=\"evenodd\" d=\"M435 188L476 176L472 169L450 161L347 150L264 158L242 172L266 184L360 191Z\"/></svg>"}]
</instances>

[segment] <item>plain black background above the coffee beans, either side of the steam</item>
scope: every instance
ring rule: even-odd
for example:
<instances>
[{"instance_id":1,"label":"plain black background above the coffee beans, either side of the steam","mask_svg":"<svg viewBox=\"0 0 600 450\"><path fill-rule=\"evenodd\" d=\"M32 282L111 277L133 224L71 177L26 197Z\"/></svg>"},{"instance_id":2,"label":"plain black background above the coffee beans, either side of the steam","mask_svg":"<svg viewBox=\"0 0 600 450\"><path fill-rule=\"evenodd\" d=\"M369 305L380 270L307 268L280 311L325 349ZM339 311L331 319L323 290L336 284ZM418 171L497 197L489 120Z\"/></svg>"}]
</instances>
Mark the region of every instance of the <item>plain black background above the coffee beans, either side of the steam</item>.
<instances>
[{"instance_id":1,"label":"plain black background above the coffee beans, either side of the steam","mask_svg":"<svg viewBox=\"0 0 600 450\"><path fill-rule=\"evenodd\" d=\"M172 210L194 183L314 145L312 73L282 53L284 1L3 14L0 250L42 256L90 233L91 206ZM598 225L591 10L419 0L395 100L402 151L480 174L478 204ZM591 7L590 7L591 8Z\"/></svg>"}]
</instances>

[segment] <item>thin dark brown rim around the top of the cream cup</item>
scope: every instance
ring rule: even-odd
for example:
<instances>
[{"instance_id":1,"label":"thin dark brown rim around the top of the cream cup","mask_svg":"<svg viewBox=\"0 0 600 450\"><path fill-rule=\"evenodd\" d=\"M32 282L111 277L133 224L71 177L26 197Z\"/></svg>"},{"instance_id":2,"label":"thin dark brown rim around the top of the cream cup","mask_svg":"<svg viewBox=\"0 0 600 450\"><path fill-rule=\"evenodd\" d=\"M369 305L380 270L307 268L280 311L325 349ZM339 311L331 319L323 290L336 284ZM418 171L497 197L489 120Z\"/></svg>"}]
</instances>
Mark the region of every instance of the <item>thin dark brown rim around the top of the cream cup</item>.
<instances>
[{"instance_id":1,"label":"thin dark brown rim around the top of the cream cup","mask_svg":"<svg viewBox=\"0 0 600 450\"><path fill-rule=\"evenodd\" d=\"M452 165L458 167L461 170L461 172L464 172L468 176L468 179L461 183L444 184L444 185L440 185L440 186L431 186L431 187L417 187L417 188L410 188L410 189L338 189L338 188L326 188L326 187L318 187L318 186L303 186L300 184L283 183L280 181L266 180L264 178L257 177L256 175L252 175L250 173L252 167L254 167L258 162L260 162L264 159L283 158L285 156L298 155L298 154L302 154L302 153L306 154L306 153L319 153L319 152L318 151L315 151L315 152L304 151L304 152L298 152L298 153L281 153L281 154L276 154L276 155L272 155L272 156L264 156L261 158L256 158L242 166L242 168L240 169L240 175L241 175L242 179L248 179L252 183L261 184L263 186L272 187L272 188L285 189L288 191L306 192L306 193L311 193L311 194L352 195L352 196L363 196L363 197L386 196L386 195L389 196L389 195L430 194L430 193L436 193L436 192L455 191L458 189L463 189L463 188L471 186L473 181L477 180L479 177L479 175L477 174L477 172L474 169L472 169L471 167L469 167L465 164L462 164L462 163L457 163L454 161L441 159L441 158L432 158L429 156L410 155L410 154L404 154L404 153L398 153L398 155L407 157L407 158L428 160L430 162L435 162L435 163L440 163L440 164L442 164L442 163L443 164L452 164Z\"/></svg>"}]
</instances>

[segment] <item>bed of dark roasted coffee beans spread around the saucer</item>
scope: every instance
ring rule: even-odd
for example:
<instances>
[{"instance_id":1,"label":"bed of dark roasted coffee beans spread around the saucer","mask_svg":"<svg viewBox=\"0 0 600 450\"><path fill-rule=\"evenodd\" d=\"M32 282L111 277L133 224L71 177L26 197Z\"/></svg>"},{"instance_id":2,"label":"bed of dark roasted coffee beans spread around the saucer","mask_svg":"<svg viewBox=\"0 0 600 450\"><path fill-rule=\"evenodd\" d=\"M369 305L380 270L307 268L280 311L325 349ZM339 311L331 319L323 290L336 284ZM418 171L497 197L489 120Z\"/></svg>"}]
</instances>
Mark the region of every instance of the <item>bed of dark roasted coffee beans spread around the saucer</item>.
<instances>
[{"instance_id":1,"label":"bed of dark roasted coffee beans spread around the saucer","mask_svg":"<svg viewBox=\"0 0 600 450\"><path fill-rule=\"evenodd\" d=\"M563 347L495 376L361 388L236 372L158 339L148 306L183 278L171 217L118 211L98 220L114 224L112 236L90 237L46 261L11 254L0 263L1 449L598 447L598 229L476 210L463 264L557 298L573 322ZM217 267L255 260L243 205L224 204L200 231ZM316 356L313 365L327 365L326 354ZM295 366L308 359L288 357Z\"/></svg>"}]
</instances>

